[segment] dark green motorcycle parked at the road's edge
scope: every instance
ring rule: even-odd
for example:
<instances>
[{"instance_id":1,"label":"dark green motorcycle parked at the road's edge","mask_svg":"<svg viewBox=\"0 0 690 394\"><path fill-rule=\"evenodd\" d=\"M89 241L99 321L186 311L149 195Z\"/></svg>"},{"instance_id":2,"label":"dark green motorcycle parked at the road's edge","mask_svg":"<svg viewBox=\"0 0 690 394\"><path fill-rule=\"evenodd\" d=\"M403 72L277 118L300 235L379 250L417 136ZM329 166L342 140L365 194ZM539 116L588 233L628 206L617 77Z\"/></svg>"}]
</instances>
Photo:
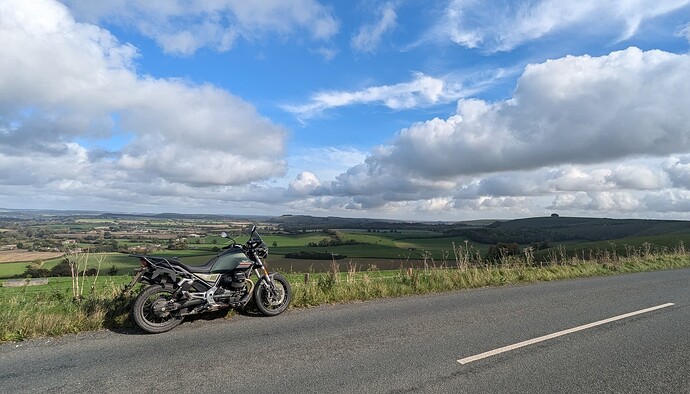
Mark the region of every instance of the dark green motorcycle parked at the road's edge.
<instances>
[{"instance_id":1,"label":"dark green motorcycle parked at the road's edge","mask_svg":"<svg viewBox=\"0 0 690 394\"><path fill-rule=\"evenodd\" d=\"M229 238L225 232L221 236ZM174 258L131 255L142 267L128 288L137 283L147 285L132 306L137 326L161 333L182 323L186 316L243 308L251 300L265 316L285 311L292 298L290 284L283 275L268 273L262 261L268 248L256 226L252 226L245 244L229 239L231 244L202 266L186 265Z\"/></svg>"}]
</instances>

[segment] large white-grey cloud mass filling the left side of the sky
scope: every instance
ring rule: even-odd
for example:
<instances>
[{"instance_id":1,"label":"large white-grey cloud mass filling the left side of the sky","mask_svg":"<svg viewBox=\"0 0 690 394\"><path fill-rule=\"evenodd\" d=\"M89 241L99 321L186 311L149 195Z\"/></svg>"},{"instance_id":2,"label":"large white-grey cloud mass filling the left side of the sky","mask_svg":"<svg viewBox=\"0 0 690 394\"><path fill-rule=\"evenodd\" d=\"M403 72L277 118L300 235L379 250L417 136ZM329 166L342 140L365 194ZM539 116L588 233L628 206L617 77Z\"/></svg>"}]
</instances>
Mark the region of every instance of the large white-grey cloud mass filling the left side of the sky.
<instances>
[{"instance_id":1,"label":"large white-grey cloud mass filling the left side of the sky","mask_svg":"<svg viewBox=\"0 0 690 394\"><path fill-rule=\"evenodd\" d=\"M286 171L282 127L212 85L139 75L136 48L76 22L60 3L2 2L0 41L8 195L44 194L18 185L114 199L157 188L175 194Z\"/></svg>"}]
</instances>

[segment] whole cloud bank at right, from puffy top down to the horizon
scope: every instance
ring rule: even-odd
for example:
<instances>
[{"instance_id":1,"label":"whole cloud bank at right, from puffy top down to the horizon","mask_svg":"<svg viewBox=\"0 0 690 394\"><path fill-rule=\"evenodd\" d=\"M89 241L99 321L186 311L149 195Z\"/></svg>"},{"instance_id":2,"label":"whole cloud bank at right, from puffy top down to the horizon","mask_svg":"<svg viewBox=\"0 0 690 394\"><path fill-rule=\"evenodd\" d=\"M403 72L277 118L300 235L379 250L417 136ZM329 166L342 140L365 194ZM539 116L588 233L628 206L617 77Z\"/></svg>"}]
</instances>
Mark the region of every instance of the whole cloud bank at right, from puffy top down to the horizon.
<instances>
[{"instance_id":1,"label":"whole cloud bank at right, from puffy top down to the horizon","mask_svg":"<svg viewBox=\"0 0 690 394\"><path fill-rule=\"evenodd\" d=\"M662 189L686 194L688 72L688 55L634 47L532 64L510 99L462 99L454 115L400 131L316 192L359 209L450 199L468 209L652 210Z\"/></svg>"}]
</instances>

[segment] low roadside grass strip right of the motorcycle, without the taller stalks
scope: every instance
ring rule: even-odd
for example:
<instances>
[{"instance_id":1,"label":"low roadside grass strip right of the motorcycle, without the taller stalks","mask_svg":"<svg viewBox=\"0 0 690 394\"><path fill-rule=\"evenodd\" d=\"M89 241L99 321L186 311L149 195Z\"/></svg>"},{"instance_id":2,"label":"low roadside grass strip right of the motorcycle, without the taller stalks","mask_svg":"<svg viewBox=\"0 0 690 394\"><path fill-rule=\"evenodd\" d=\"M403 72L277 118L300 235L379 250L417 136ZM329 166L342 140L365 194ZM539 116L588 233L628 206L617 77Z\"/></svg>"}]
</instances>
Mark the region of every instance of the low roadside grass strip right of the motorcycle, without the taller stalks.
<instances>
[{"instance_id":1,"label":"low roadside grass strip right of the motorcycle, without the taller stalks","mask_svg":"<svg viewBox=\"0 0 690 394\"><path fill-rule=\"evenodd\" d=\"M293 307L324 303L363 301L384 297L438 293L486 286L504 286L602 275L647 272L690 267L686 255L657 255L647 259L626 258L615 262L571 261L544 267L514 264L395 271L341 272L334 268L321 274L288 275L294 290Z\"/></svg>"}]
</instances>

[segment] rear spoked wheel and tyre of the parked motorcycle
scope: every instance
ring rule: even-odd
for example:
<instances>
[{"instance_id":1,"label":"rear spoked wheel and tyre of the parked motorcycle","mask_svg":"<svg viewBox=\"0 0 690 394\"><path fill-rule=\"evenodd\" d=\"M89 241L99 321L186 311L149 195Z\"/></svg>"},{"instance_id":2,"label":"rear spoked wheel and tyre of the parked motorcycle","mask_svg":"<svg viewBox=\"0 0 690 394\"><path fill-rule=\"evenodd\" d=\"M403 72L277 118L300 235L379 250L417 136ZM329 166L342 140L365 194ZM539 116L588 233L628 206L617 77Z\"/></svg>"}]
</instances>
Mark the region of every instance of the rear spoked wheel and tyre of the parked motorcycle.
<instances>
[{"instance_id":1,"label":"rear spoked wheel and tyre of the parked motorcycle","mask_svg":"<svg viewBox=\"0 0 690 394\"><path fill-rule=\"evenodd\" d=\"M132 317L142 330L157 334L172 330L182 323L177 312L169 311L173 290L160 285L149 286L139 294L132 306Z\"/></svg>"}]
</instances>

